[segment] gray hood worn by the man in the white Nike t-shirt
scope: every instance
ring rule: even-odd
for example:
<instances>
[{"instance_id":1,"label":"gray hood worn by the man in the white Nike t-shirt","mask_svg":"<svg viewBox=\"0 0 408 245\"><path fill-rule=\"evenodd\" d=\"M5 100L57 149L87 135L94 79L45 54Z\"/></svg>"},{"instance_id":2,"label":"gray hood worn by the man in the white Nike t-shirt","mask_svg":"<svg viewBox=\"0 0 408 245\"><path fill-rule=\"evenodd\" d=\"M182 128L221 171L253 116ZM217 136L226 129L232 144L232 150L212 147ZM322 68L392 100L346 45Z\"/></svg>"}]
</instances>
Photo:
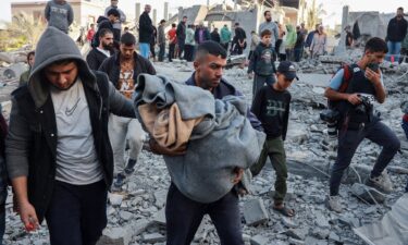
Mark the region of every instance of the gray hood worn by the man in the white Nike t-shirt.
<instances>
[{"instance_id":1,"label":"gray hood worn by the man in the white Nike t-shirt","mask_svg":"<svg viewBox=\"0 0 408 245\"><path fill-rule=\"evenodd\" d=\"M28 78L28 90L37 108L41 107L49 96L50 84L45 79L42 70L55 61L67 59L77 62L78 75L84 82L95 83L96 77L81 56L74 40L55 27L47 27L37 44L36 59Z\"/></svg>"}]
</instances>

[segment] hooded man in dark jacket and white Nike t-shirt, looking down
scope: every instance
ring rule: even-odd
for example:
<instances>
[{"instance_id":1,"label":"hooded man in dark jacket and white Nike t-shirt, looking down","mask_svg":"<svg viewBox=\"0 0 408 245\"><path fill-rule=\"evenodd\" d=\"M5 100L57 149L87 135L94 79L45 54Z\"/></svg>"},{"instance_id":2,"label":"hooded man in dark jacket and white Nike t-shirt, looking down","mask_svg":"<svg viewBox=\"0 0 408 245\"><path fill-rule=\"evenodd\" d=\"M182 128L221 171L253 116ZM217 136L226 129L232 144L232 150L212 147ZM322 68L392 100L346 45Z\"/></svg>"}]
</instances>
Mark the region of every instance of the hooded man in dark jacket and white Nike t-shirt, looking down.
<instances>
[{"instance_id":1,"label":"hooded man in dark jacket and white Nike t-shirt, looking down","mask_svg":"<svg viewBox=\"0 0 408 245\"><path fill-rule=\"evenodd\" d=\"M45 218L52 245L96 244L107 225L109 112L135 117L75 42L47 28L28 85L13 91L5 156L25 229L38 229Z\"/></svg>"}]
</instances>

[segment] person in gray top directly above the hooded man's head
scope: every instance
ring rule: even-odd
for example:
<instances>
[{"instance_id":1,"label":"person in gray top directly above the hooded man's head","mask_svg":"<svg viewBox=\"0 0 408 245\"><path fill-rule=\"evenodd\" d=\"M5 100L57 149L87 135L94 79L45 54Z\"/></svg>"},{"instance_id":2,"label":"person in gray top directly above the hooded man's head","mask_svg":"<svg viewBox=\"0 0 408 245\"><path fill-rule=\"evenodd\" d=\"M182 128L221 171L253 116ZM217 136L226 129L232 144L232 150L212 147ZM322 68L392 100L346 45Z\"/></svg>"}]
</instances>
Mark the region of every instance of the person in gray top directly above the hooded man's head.
<instances>
[{"instance_id":1,"label":"person in gray top directly above the hooded man's head","mask_svg":"<svg viewBox=\"0 0 408 245\"><path fill-rule=\"evenodd\" d=\"M53 26L66 33L74 21L74 11L64 0L48 1L45 10L48 26Z\"/></svg>"}]
</instances>

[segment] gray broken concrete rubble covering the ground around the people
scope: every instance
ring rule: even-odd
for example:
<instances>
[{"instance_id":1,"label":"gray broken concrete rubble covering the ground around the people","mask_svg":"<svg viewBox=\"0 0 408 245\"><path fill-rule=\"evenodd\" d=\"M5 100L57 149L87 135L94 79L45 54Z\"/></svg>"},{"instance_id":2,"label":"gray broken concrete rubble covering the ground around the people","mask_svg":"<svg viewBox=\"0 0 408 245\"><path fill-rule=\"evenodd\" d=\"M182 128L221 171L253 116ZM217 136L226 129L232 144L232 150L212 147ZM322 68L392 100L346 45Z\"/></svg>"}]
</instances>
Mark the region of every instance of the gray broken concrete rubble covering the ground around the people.
<instances>
[{"instance_id":1,"label":"gray broken concrete rubble covering the ground around the people","mask_svg":"<svg viewBox=\"0 0 408 245\"><path fill-rule=\"evenodd\" d=\"M341 197L344 212L334 213L325 207L329 171L334 160L330 157L333 155L330 151L331 140L326 136L327 127L320 120L319 112L326 105L322 93L332 74L342 62L356 61L361 54L361 50L347 52L344 57L327 56L297 63L300 81L295 82L289 89L293 102L285 142L289 171L286 205L295 209L296 216L285 218L273 211L272 191L275 177L268 160L263 171L252 180L251 194L244 196L239 203L246 245L362 245L364 242L353 229L381 220L401 196L408 173L408 144L400 128L399 103L408 95L408 66L385 63L384 83L388 98L384 105L375 107L383 122L401 140L401 151L392 161L388 172L394 192L375 196L375 201L370 201L367 197L370 196L367 189L371 195L373 191L362 184L381 149L364 140L353 159L353 168L343 180L345 184L341 187ZM4 77L1 72L10 65L0 65L0 79L5 85L0 88L0 101L5 114L10 111L10 93L17 86L16 78ZM186 81L193 72L191 63L178 60L154 65L159 74L180 82ZM246 69L234 65L224 71L224 77L246 95L248 102L251 101L252 81L248 79ZM143 150L136 171L123 191L109 195L108 226L98 244L165 244L164 208L169 184L170 176L162 157ZM251 204L251 208L248 208L248 204ZM39 231L26 234L18 216L12 213L11 209L9 197L4 244L48 244L45 224ZM220 244L217 230L207 216L193 244Z\"/></svg>"}]
</instances>

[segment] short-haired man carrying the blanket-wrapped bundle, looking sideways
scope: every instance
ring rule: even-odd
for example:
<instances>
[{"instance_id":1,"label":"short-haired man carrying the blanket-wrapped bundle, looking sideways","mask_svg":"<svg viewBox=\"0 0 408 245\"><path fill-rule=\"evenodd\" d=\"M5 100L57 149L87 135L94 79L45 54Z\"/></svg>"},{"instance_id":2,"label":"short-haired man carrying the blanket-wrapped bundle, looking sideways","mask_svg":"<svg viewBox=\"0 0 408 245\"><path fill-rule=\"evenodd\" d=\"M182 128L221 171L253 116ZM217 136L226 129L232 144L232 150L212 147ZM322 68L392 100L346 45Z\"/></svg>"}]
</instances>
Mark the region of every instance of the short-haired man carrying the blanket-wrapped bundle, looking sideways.
<instances>
[{"instance_id":1,"label":"short-haired man carrying the blanket-wrapped bundle, looking sideways","mask_svg":"<svg viewBox=\"0 0 408 245\"><path fill-rule=\"evenodd\" d=\"M225 96L242 96L233 85L222 78L225 65L225 49L214 41L205 41L197 48L194 61L196 71L186 84L209 90L217 99ZM248 118L252 127L262 128L249 109ZM238 184L243 170L236 169L234 172L236 177L232 182ZM238 200L238 193L236 188L233 188L214 203L198 203L182 194L172 183L165 206L168 245L190 244L206 213L214 223L221 244L244 245Z\"/></svg>"}]
</instances>

